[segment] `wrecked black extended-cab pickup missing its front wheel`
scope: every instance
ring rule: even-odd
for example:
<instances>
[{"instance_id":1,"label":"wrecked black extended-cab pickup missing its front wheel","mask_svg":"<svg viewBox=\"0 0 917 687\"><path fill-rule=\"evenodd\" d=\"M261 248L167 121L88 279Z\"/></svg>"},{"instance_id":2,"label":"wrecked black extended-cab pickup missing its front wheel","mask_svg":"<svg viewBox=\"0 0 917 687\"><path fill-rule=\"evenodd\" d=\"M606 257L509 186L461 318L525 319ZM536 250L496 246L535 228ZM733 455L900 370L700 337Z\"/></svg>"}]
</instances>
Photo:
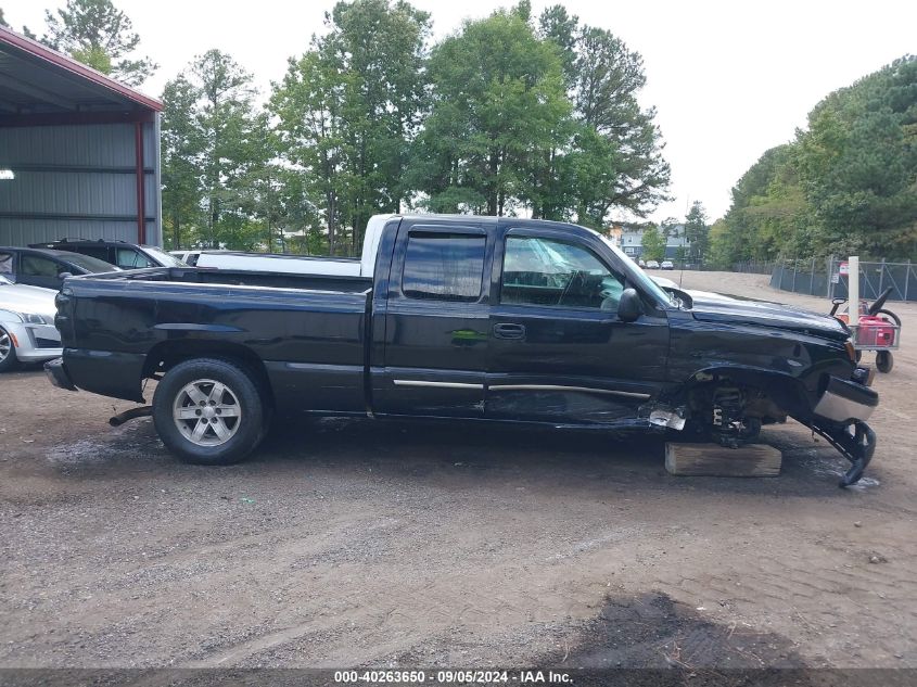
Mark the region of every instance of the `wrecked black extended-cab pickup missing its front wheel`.
<instances>
[{"instance_id":1,"label":"wrecked black extended-cab pickup missing its front wheel","mask_svg":"<svg viewBox=\"0 0 917 687\"><path fill-rule=\"evenodd\" d=\"M143 402L186 460L245 458L275 414L662 431L726 445L787 417L863 474L878 405L838 320L664 291L599 233L371 222L372 277L151 268L67 279L58 386ZM365 250L364 258L367 252ZM358 269L358 266L357 266Z\"/></svg>"}]
</instances>

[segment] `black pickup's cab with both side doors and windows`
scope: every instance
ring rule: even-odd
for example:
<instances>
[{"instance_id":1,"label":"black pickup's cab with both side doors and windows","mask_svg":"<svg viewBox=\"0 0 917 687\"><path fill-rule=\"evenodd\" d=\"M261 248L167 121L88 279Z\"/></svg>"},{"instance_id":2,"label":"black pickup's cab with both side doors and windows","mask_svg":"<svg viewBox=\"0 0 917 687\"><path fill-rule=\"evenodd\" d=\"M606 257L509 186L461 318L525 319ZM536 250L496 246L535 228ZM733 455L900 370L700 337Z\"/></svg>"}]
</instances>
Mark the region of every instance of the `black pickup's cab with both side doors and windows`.
<instances>
[{"instance_id":1,"label":"black pickup's cab with both side doors and windows","mask_svg":"<svg viewBox=\"0 0 917 687\"><path fill-rule=\"evenodd\" d=\"M505 218L389 221L397 230L383 233L373 289L377 412L608 423L664 384L668 296L599 234ZM625 292L638 318L622 318Z\"/></svg>"}]
</instances>

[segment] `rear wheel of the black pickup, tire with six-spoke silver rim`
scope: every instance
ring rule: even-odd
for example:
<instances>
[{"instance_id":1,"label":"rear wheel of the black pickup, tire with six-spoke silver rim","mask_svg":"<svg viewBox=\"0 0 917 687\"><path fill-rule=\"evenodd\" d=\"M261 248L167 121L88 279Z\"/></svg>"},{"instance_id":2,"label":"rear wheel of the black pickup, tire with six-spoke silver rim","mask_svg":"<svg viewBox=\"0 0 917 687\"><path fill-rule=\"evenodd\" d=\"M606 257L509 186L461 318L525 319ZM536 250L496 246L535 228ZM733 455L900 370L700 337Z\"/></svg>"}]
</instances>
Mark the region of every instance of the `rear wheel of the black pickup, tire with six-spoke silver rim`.
<instances>
[{"instance_id":1,"label":"rear wheel of the black pickup, tire with six-spoke silver rim","mask_svg":"<svg viewBox=\"0 0 917 687\"><path fill-rule=\"evenodd\" d=\"M180 362L153 396L156 432L184 462L228 466L244 460L264 438L265 420L253 376L228 360Z\"/></svg>"}]
</instances>

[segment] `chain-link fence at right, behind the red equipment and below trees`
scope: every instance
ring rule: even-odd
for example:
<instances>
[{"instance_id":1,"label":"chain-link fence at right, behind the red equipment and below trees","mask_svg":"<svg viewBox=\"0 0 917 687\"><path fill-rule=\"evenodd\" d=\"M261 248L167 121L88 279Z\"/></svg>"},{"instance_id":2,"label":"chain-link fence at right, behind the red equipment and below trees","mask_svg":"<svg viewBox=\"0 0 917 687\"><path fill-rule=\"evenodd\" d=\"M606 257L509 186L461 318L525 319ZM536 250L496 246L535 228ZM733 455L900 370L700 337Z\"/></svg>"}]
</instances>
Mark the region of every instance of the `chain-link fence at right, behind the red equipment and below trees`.
<instances>
[{"instance_id":1,"label":"chain-link fence at right, behind the red equipment and below trees","mask_svg":"<svg viewBox=\"0 0 917 687\"><path fill-rule=\"evenodd\" d=\"M774 265L770 285L782 291L828 298L846 297L850 276L846 259L781 260ZM889 301L917 301L917 265L859 263L859 297L875 300L891 287Z\"/></svg>"}]
</instances>

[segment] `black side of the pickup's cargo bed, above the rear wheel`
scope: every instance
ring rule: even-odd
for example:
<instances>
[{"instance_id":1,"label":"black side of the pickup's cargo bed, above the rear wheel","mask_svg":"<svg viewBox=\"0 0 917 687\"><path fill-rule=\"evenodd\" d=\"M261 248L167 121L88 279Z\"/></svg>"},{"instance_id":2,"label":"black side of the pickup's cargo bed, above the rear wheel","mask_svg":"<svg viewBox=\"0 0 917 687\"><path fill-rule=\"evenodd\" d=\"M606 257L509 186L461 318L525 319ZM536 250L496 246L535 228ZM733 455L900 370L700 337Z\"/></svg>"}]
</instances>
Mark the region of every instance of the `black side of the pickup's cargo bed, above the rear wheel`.
<instances>
[{"instance_id":1,"label":"black side of the pickup's cargo bed, above the rear wheel","mask_svg":"<svg viewBox=\"0 0 917 687\"><path fill-rule=\"evenodd\" d=\"M66 280L55 323L74 383L142 400L170 356L259 360L278 404L365 410L372 280L160 267ZM253 361L254 362L254 361Z\"/></svg>"}]
</instances>

